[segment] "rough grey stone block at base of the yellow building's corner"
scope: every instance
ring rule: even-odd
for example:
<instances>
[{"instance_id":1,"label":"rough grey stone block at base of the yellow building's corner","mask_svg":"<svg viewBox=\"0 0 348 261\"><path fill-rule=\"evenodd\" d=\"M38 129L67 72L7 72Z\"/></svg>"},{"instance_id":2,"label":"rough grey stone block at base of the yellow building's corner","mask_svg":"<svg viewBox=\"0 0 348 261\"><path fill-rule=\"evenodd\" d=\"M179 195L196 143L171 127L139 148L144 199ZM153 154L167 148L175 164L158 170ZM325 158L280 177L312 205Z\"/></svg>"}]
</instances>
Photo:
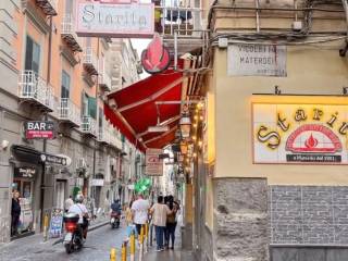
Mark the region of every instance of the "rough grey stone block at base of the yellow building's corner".
<instances>
[{"instance_id":1,"label":"rough grey stone block at base of the yellow building's corner","mask_svg":"<svg viewBox=\"0 0 348 261\"><path fill-rule=\"evenodd\" d=\"M214 186L214 261L268 261L268 185L219 178Z\"/></svg>"}]
</instances>

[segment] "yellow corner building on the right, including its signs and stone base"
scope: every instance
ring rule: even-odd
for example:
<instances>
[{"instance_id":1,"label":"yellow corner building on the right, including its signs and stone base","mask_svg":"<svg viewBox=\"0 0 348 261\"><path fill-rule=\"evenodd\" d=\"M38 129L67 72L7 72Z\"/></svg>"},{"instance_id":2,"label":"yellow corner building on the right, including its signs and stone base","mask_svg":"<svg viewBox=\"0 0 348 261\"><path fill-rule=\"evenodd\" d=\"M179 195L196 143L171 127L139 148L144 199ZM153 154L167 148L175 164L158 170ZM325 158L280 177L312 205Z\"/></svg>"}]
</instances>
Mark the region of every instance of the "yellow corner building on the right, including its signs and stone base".
<instances>
[{"instance_id":1,"label":"yellow corner building on the right, including its signs and stone base","mask_svg":"<svg viewBox=\"0 0 348 261\"><path fill-rule=\"evenodd\" d=\"M208 16L192 248L199 260L346 260L347 10L233 4Z\"/></svg>"}]
</instances>

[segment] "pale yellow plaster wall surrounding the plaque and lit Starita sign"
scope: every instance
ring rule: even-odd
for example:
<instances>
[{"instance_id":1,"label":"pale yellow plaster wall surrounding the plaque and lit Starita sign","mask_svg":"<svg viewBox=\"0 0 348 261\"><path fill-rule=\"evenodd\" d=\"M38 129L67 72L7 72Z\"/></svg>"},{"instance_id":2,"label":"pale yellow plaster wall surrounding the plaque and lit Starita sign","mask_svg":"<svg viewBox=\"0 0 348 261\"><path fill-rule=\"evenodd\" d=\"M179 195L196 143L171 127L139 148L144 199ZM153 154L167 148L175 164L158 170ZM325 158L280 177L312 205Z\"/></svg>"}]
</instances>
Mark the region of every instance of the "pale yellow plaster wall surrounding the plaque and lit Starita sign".
<instances>
[{"instance_id":1,"label":"pale yellow plaster wall surrounding the plaque and lit Starita sign","mask_svg":"<svg viewBox=\"0 0 348 261\"><path fill-rule=\"evenodd\" d=\"M216 49L215 177L268 177L278 185L348 185L346 165L252 163L252 101L348 103L348 97L252 96L273 94L340 95L348 82L348 61L338 50L344 42L287 48L287 77L227 76L227 49Z\"/></svg>"}]
</instances>

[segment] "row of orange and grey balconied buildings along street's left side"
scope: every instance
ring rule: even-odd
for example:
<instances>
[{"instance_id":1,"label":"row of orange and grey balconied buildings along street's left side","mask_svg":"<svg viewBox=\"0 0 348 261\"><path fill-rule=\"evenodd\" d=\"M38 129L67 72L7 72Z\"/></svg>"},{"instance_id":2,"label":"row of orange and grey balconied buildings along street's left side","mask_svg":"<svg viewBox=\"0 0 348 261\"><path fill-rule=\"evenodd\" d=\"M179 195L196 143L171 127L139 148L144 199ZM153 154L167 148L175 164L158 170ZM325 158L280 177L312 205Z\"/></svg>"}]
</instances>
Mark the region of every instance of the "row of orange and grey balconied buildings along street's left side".
<instances>
[{"instance_id":1,"label":"row of orange and grey balconied buildings along street's left side","mask_svg":"<svg viewBox=\"0 0 348 261\"><path fill-rule=\"evenodd\" d=\"M63 209L65 199L78 190L97 216L120 198L127 185L121 181L128 141L104 119L103 99L122 83L113 70L126 61L128 71L137 72L137 57L129 40L120 50L133 60L113 61L110 39L78 37L73 0L11 0L0 5L0 71L5 79L0 86L4 173L0 243L4 243L11 238L14 189L21 194L21 234L40 232L42 217L53 208ZM28 122L53 124L54 138L28 137ZM133 153L141 154L135 149ZM129 159L134 176L135 158Z\"/></svg>"}]
</instances>

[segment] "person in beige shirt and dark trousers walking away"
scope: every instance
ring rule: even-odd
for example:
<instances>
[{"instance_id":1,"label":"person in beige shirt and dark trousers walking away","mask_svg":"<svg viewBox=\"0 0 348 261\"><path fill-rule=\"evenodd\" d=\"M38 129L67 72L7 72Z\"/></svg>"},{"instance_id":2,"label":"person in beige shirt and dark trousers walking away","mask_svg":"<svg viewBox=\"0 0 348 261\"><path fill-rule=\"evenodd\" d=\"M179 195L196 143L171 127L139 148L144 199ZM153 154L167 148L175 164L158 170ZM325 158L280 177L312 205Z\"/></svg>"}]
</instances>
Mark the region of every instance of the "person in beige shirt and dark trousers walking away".
<instances>
[{"instance_id":1,"label":"person in beige shirt and dark trousers walking away","mask_svg":"<svg viewBox=\"0 0 348 261\"><path fill-rule=\"evenodd\" d=\"M152 214L152 224L156 231L157 251L163 251L164 245L164 228L166 224L166 216L172 213L166 204L163 203L163 197L158 197L158 202L154 203L150 210Z\"/></svg>"}]
</instances>

